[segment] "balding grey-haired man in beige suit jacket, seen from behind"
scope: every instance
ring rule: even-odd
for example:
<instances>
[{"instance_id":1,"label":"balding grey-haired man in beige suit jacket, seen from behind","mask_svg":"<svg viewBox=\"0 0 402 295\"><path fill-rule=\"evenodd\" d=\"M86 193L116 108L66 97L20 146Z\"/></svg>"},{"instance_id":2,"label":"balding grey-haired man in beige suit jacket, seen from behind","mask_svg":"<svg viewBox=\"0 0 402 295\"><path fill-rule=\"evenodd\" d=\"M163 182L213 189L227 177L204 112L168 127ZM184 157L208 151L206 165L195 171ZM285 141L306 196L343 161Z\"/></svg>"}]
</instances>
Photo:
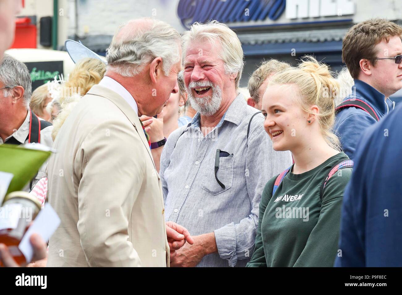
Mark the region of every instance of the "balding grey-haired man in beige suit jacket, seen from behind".
<instances>
[{"instance_id":1,"label":"balding grey-haired man in beige suit jacket, seen from behind","mask_svg":"<svg viewBox=\"0 0 402 295\"><path fill-rule=\"evenodd\" d=\"M49 203L61 219L50 267L166 267L170 246L192 243L165 224L159 175L139 116L158 114L177 92L180 34L151 18L121 26L105 77L60 128L48 166Z\"/></svg>"}]
</instances>

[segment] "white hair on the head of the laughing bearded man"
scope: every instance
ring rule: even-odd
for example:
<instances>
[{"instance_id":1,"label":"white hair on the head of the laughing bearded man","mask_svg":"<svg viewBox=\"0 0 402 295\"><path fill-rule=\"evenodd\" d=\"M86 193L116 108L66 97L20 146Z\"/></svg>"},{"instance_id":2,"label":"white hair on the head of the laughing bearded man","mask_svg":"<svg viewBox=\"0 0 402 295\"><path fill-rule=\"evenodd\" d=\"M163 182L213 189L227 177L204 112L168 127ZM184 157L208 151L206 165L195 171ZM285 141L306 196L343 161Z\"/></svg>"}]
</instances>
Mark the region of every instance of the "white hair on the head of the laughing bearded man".
<instances>
[{"instance_id":1,"label":"white hair on the head of the laughing bearded man","mask_svg":"<svg viewBox=\"0 0 402 295\"><path fill-rule=\"evenodd\" d=\"M195 22L189 31L183 33L182 39L183 63L187 47L191 42L206 40L213 46L216 46L216 42L218 42L221 45L219 57L224 61L225 72L226 74L238 73L235 82L236 89L239 87L244 67L242 44L236 33L226 24L222 24L217 20L211 20L207 24Z\"/></svg>"}]
</instances>

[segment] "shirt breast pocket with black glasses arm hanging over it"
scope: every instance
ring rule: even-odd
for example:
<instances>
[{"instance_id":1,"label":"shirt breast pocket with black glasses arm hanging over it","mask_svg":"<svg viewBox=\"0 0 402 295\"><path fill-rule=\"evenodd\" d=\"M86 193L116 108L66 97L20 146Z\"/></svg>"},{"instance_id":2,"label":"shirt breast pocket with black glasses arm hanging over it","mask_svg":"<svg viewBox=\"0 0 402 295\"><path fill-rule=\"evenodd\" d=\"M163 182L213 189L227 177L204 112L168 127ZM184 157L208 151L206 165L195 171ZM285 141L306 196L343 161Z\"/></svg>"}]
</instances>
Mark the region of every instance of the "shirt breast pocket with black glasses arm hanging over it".
<instances>
[{"instance_id":1,"label":"shirt breast pocket with black glasses arm hanging over it","mask_svg":"<svg viewBox=\"0 0 402 295\"><path fill-rule=\"evenodd\" d=\"M234 158L233 157L220 157L219 170L216 173L217 178L225 185L222 188L215 179L215 167L208 165L205 170L201 188L210 193L211 195L218 195L232 187L234 174Z\"/></svg>"}]
</instances>

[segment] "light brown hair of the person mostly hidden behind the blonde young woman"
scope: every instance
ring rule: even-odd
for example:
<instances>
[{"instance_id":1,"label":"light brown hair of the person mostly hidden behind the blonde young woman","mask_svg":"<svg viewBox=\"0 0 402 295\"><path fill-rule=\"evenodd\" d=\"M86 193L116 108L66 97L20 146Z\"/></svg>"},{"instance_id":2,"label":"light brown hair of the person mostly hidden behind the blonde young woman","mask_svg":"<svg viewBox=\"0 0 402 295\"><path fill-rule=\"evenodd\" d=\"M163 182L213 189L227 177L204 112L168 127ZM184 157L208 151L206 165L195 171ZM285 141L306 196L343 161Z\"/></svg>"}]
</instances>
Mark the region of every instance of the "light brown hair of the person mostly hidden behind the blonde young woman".
<instances>
[{"instance_id":1,"label":"light brown hair of the person mostly hidden behind the blonde young woman","mask_svg":"<svg viewBox=\"0 0 402 295\"><path fill-rule=\"evenodd\" d=\"M251 98L254 100L256 104L260 101L261 97L258 95L258 90L261 85L265 82L265 80L278 73L289 68L290 65L288 63L284 63L281 61L277 61L276 59L270 59L269 61L263 61L261 65L251 74L248 79L248 92L250 93Z\"/></svg>"}]
</instances>

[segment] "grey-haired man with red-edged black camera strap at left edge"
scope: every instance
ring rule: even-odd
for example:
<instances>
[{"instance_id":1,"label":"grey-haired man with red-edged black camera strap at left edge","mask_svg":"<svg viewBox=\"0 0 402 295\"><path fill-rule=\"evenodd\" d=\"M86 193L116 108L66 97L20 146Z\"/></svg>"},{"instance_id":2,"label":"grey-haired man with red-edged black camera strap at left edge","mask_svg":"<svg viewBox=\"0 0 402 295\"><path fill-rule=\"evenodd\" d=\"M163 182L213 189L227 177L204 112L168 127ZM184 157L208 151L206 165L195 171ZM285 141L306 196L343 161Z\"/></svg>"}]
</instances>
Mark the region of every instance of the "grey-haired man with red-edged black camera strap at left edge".
<instances>
[{"instance_id":1,"label":"grey-haired man with red-edged black camera strap at left edge","mask_svg":"<svg viewBox=\"0 0 402 295\"><path fill-rule=\"evenodd\" d=\"M0 144L40 142L52 146L53 126L31 111L31 94L31 75L27 66L5 54L0 61ZM25 191L46 176L46 165L47 162L24 188Z\"/></svg>"}]
</instances>

